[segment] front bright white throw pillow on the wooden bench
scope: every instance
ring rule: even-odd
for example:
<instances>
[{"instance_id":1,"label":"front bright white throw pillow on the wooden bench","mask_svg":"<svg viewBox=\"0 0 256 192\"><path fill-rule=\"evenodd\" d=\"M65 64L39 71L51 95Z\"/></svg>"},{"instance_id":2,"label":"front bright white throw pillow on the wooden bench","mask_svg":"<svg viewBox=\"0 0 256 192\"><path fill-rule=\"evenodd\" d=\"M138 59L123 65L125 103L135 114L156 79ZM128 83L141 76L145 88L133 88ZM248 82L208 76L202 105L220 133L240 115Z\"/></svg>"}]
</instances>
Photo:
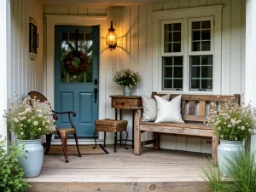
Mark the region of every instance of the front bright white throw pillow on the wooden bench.
<instances>
[{"instance_id":1,"label":"front bright white throw pillow on the wooden bench","mask_svg":"<svg viewBox=\"0 0 256 192\"><path fill-rule=\"evenodd\" d=\"M176 96L169 102L160 96L154 96L157 104L157 118L154 123L184 123L180 113L181 97Z\"/></svg>"}]
</instances>

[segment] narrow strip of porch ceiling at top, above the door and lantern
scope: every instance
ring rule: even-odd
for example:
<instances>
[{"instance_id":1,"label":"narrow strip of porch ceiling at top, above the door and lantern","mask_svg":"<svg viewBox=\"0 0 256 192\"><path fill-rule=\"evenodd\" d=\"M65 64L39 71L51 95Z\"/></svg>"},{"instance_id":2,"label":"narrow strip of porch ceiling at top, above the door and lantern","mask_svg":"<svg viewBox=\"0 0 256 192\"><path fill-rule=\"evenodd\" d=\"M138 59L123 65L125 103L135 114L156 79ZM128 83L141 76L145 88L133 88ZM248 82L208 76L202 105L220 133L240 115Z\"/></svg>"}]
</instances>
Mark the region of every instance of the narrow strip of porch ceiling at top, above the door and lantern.
<instances>
[{"instance_id":1,"label":"narrow strip of porch ceiling at top, above the door and lantern","mask_svg":"<svg viewBox=\"0 0 256 192\"><path fill-rule=\"evenodd\" d=\"M44 5L52 6L97 6L97 7L116 7L130 6L143 3L160 3L160 0L40 0Z\"/></svg>"}]
</instances>

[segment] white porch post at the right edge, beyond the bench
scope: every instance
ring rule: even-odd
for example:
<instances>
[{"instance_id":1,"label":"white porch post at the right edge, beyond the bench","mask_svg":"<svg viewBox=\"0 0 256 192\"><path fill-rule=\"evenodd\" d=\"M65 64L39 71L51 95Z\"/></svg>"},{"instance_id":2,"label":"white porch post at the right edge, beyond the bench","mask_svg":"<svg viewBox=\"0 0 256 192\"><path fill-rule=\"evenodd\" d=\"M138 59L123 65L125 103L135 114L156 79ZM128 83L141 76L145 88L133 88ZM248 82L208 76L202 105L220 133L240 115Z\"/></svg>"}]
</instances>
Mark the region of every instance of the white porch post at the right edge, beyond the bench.
<instances>
[{"instance_id":1,"label":"white porch post at the right edge, beyond the bench","mask_svg":"<svg viewBox=\"0 0 256 192\"><path fill-rule=\"evenodd\" d=\"M247 0L246 4L246 73L245 102L256 107L256 1ZM256 153L256 136L251 140Z\"/></svg>"}]
</instances>

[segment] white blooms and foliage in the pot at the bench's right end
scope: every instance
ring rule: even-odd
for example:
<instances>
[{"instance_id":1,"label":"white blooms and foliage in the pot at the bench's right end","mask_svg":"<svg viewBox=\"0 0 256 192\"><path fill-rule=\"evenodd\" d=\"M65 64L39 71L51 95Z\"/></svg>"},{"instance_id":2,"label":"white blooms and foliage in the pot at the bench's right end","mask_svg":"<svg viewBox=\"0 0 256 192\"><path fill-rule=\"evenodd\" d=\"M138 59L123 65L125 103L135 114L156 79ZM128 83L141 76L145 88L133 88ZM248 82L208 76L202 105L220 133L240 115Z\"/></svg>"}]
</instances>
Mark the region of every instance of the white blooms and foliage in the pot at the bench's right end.
<instances>
[{"instance_id":1,"label":"white blooms and foliage in the pot at the bench's right end","mask_svg":"<svg viewBox=\"0 0 256 192\"><path fill-rule=\"evenodd\" d=\"M216 102L211 103L208 123L221 140L243 141L253 134L256 125L255 108L239 105L234 99L226 100L219 109Z\"/></svg>"}]
</instances>

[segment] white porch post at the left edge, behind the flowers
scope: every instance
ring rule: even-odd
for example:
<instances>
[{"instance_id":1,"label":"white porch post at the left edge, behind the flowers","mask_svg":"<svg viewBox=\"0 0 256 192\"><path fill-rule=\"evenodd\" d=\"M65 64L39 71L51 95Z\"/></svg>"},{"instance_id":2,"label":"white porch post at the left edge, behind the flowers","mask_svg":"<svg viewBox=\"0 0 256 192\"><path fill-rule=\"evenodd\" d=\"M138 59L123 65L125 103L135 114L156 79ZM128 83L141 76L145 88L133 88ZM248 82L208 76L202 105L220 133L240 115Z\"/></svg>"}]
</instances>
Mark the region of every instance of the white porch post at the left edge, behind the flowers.
<instances>
[{"instance_id":1,"label":"white porch post at the left edge, behind the flowers","mask_svg":"<svg viewBox=\"0 0 256 192\"><path fill-rule=\"evenodd\" d=\"M0 139L7 137L7 126L3 119L3 110L7 107L7 47L8 47L8 22L9 0L0 0Z\"/></svg>"}]
</instances>

